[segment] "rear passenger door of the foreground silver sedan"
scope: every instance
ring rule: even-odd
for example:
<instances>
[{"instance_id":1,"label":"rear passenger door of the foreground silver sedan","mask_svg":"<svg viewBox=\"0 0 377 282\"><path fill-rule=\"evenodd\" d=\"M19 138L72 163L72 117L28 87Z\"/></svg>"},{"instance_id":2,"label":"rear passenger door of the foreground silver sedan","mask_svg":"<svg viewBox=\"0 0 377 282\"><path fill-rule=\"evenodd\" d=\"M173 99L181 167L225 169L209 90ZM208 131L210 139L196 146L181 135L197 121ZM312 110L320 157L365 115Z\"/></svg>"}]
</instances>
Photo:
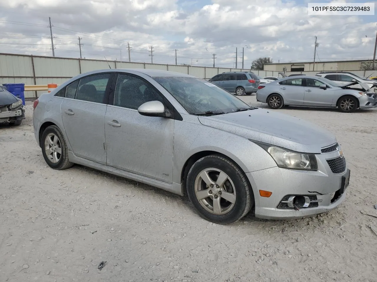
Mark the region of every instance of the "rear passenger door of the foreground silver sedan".
<instances>
[{"instance_id":1,"label":"rear passenger door of the foreground silver sedan","mask_svg":"<svg viewBox=\"0 0 377 282\"><path fill-rule=\"evenodd\" d=\"M101 73L70 83L60 106L73 153L101 164L106 164L104 116L112 77Z\"/></svg>"}]
</instances>

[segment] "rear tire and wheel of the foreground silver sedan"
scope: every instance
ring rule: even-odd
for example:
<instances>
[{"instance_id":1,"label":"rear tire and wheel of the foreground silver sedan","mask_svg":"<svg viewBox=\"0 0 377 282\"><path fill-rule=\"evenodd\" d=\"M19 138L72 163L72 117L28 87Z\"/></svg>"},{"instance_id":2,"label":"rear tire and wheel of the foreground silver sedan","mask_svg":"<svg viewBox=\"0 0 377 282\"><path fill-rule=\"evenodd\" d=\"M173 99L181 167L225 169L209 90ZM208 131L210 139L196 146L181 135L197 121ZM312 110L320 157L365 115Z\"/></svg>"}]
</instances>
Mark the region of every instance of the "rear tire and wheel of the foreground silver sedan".
<instances>
[{"instance_id":1,"label":"rear tire and wheel of the foreground silver sedan","mask_svg":"<svg viewBox=\"0 0 377 282\"><path fill-rule=\"evenodd\" d=\"M41 138L41 148L43 158L49 167L55 170L72 167L73 163L68 160L66 140L56 125L48 126L44 130Z\"/></svg>"}]
</instances>

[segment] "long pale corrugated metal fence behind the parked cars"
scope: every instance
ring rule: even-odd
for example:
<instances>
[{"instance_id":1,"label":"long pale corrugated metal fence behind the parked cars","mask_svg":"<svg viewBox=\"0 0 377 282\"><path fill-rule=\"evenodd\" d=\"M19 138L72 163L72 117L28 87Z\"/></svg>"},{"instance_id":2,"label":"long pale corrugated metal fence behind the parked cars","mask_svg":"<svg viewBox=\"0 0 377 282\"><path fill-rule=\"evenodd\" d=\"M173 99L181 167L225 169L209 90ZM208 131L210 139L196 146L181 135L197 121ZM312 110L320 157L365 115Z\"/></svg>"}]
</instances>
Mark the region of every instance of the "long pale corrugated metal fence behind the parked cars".
<instances>
[{"instance_id":1,"label":"long pale corrugated metal fence behind the parked cars","mask_svg":"<svg viewBox=\"0 0 377 282\"><path fill-rule=\"evenodd\" d=\"M349 63L349 64L348 64ZM72 58L53 58L41 56L28 55L14 55L14 54L0 54L0 83L25 83L25 85L46 85L48 83L61 84L67 79L87 71L107 69L109 65L111 68L152 68L158 70L169 70L178 73L191 74L197 77L210 79L216 74L225 71L250 71L235 68L212 68L212 67L195 67L186 65L163 65L163 64L148 64L148 63L134 63L134 62L115 62L105 60L89 60L89 59L72 59ZM339 68L340 63L337 64ZM352 67L356 62L344 62L341 65L342 70L346 67ZM310 66L311 65L311 66ZM330 67L336 67L331 65ZM266 68L274 68L276 65L266 65ZM292 74L290 71L291 64L284 65L287 67L287 75ZM316 67L320 64L316 64ZM313 69L313 63L307 63L306 69ZM322 71L323 69L318 69ZM327 69L325 69L327 70ZM335 69L330 69L335 70ZM261 77L265 76L279 76L281 70L261 70L253 71ZM318 71L301 71L294 73L305 73L307 75L315 75ZM360 76L368 76L374 71L352 71ZM26 98L39 96L43 91L38 91L36 94L32 91L25 92Z\"/></svg>"}]
</instances>

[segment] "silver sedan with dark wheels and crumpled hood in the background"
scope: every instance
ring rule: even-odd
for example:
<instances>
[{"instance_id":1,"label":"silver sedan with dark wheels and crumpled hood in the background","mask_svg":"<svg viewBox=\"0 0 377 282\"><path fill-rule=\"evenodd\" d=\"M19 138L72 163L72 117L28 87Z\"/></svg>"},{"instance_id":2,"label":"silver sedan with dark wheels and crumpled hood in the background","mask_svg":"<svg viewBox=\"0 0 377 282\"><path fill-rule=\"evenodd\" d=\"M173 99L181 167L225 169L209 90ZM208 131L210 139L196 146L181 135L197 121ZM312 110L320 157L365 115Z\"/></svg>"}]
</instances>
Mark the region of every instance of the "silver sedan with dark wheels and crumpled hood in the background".
<instances>
[{"instance_id":1,"label":"silver sedan with dark wheels and crumpled hood in the background","mask_svg":"<svg viewBox=\"0 0 377 282\"><path fill-rule=\"evenodd\" d=\"M267 103L271 109L294 105L338 107L342 112L354 112L357 108L377 107L377 94L365 83L350 82L339 86L318 76L285 77L259 85L256 99Z\"/></svg>"}]
</instances>

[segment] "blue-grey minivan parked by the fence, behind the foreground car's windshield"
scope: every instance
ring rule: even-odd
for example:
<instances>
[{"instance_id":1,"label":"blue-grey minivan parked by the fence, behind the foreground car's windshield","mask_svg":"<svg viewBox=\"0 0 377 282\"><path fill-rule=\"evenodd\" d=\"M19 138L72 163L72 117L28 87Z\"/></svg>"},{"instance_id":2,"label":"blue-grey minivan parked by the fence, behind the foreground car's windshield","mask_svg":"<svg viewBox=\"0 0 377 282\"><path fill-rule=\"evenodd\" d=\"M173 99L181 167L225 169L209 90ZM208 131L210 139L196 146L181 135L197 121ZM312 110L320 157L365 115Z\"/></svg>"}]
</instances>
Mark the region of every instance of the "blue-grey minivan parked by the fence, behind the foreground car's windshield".
<instances>
[{"instance_id":1,"label":"blue-grey minivan parked by the fence, behind the foreground car's windshield","mask_svg":"<svg viewBox=\"0 0 377 282\"><path fill-rule=\"evenodd\" d=\"M209 81L239 96L250 95L258 89L261 82L251 71L228 71L212 77Z\"/></svg>"}]
</instances>

